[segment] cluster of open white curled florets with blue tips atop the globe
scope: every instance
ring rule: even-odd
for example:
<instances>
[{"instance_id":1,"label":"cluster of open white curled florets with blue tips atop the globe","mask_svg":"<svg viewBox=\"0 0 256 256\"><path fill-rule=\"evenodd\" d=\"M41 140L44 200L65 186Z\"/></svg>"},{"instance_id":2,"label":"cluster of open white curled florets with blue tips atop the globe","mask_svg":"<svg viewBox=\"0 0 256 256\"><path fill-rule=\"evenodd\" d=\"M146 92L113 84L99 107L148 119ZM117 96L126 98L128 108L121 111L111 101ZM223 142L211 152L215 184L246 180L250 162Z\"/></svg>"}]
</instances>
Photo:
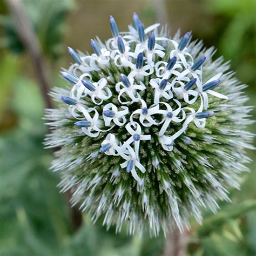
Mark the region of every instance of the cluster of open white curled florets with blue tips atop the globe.
<instances>
[{"instance_id":1,"label":"cluster of open white curled florets with blue tips atop the globe","mask_svg":"<svg viewBox=\"0 0 256 256\"><path fill-rule=\"evenodd\" d=\"M206 118L214 115L213 111L207 111L208 95L227 97L212 90L221 82L222 73L203 83L202 70L207 59L205 56L193 59L190 48L187 48L190 32L180 42L156 37L154 31L159 24L144 29L136 14L129 32L119 33L113 17L110 17L110 24L113 38L105 45L99 39L98 42L91 40L95 52L92 55L84 56L69 48L76 63L68 72L63 71L62 76L73 87L70 95L63 96L62 100L69 105L72 116L78 119L75 125L87 136L106 133L99 152L122 157L124 162L120 166L142 184L136 171L146 171L139 160L140 140L151 140L151 134L144 134L142 126L158 126L160 144L164 150L172 151L174 140L186 132L188 124L194 122L198 128L205 127ZM166 57L163 45L167 46L167 42L172 44L172 50ZM92 73L107 70L111 65L120 72L119 82L116 83L112 75L99 77L95 82ZM150 102L147 93L143 94L147 88L153 92L150 106L147 106ZM114 96L117 96L118 104L112 102ZM197 104L198 100L200 104ZM198 105L198 109L193 105ZM180 129L167 136L165 133L173 123L180 123ZM111 133L114 126L126 129L130 138L120 142Z\"/></svg>"}]
</instances>

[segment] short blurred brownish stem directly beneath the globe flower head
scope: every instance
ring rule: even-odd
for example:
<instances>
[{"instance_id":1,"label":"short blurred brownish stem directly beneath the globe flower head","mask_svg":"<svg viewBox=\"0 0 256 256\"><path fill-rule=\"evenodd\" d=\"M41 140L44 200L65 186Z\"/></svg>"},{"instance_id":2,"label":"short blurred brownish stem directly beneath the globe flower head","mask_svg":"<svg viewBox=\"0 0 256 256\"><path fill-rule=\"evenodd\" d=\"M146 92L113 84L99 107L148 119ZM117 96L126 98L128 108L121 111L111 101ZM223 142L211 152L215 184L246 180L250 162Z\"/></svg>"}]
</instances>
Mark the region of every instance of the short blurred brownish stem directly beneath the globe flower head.
<instances>
[{"instance_id":1,"label":"short blurred brownish stem directly beneath the globe flower head","mask_svg":"<svg viewBox=\"0 0 256 256\"><path fill-rule=\"evenodd\" d=\"M169 230L165 239L164 256L185 256L189 232L185 230L181 233L177 226L170 227Z\"/></svg>"}]
</instances>

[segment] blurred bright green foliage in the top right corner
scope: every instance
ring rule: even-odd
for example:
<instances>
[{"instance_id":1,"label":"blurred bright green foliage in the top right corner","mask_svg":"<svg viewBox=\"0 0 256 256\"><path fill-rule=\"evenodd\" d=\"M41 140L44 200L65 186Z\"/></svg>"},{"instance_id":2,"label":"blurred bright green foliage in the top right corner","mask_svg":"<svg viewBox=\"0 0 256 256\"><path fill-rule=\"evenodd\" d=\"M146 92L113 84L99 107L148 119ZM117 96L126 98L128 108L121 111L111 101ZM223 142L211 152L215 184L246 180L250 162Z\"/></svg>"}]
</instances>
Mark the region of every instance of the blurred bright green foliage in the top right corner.
<instances>
[{"instance_id":1,"label":"blurred bright green foliage in the top right corner","mask_svg":"<svg viewBox=\"0 0 256 256\"><path fill-rule=\"evenodd\" d=\"M255 84L255 1L210 0L205 1L205 7L217 19L214 28L220 31L220 39L216 45L219 50L217 55L232 59L232 66L235 66L238 77L245 83Z\"/></svg>"}]
</instances>

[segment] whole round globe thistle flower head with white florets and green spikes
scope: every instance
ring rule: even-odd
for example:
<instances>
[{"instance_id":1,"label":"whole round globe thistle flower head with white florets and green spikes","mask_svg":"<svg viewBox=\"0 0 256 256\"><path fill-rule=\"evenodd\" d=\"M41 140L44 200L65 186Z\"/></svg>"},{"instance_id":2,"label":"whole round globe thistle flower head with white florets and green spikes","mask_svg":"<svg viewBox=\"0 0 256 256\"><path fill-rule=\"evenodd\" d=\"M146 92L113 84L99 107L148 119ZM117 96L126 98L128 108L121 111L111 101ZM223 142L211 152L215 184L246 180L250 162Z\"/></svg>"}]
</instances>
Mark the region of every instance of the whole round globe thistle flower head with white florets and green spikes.
<instances>
[{"instance_id":1,"label":"whole round globe thistle flower head with white florets and green spikes","mask_svg":"<svg viewBox=\"0 0 256 256\"><path fill-rule=\"evenodd\" d=\"M52 169L72 205L108 228L183 231L191 217L201 223L202 208L230 201L247 171L246 85L191 32L171 38L136 14L127 32L113 17L110 25L113 37L92 40L92 55L69 48L66 89L51 92L58 106L46 110L45 145L60 147Z\"/></svg>"}]
</instances>

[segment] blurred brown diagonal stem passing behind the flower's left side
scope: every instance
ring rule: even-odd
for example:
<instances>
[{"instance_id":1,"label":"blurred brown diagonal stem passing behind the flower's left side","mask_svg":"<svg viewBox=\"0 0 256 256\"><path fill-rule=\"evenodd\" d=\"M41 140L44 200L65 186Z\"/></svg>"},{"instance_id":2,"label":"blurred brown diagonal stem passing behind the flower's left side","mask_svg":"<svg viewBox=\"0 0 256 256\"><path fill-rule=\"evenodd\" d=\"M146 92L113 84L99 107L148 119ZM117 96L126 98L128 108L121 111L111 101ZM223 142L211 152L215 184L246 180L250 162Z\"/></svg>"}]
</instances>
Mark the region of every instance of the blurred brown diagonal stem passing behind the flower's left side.
<instances>
[{"instance_id":1,"label":"blurred brown diagonal stem passing behind the flower's left side","mask_svg":"<svg viewBox=\"0 0 256 256\"><path fill-rule=\"evenodd\" d=\"M36 78L42 91L45 106L52 109L52 101L48 95L50 89L48 68L32 25L26 17L22 0L5 0L5 2L6 5L8 5L12 17L14 18L18 36L25 49L28 51L31 62L35 68ZM71 191L66 193L66 197L68 200L71 199ZM74 230L77 230L82 226L82 214L76 207L71 208L71 219Z\"/></svg>"}]
</instances>

